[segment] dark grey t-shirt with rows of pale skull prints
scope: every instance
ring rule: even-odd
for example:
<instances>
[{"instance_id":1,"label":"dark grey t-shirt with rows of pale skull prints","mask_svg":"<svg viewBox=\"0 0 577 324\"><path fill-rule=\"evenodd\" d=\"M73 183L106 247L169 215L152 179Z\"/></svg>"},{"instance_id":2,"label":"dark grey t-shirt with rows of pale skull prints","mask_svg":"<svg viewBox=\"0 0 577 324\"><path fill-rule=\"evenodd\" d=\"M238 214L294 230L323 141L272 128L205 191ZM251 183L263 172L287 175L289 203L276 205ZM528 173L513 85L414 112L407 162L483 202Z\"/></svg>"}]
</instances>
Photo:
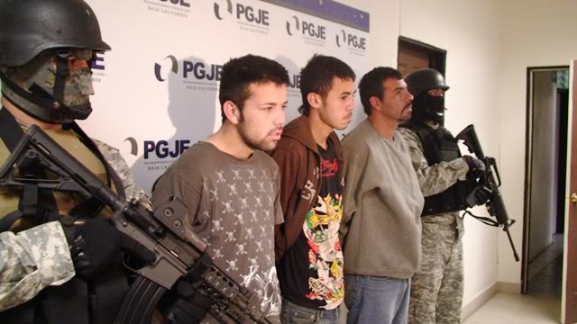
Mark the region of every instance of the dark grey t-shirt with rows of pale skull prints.
<instances>
[{"instance_id":1,"label":"dark grey t-shirt with rows of pale skull prints","mask_svg":"<svg viewBox=\"0 0 577 324\"><path fill-rule=\"evenodd\" d=\"M173 195L187 205L188 226L206 240L215 265L257 294L261 311L277 321L274 225L283 221L279 166L259 150L241 159L199 142L159 178L152 200L160 204ZM215 322L208 317L207 322Z\"/></svg>"}]
</instances>

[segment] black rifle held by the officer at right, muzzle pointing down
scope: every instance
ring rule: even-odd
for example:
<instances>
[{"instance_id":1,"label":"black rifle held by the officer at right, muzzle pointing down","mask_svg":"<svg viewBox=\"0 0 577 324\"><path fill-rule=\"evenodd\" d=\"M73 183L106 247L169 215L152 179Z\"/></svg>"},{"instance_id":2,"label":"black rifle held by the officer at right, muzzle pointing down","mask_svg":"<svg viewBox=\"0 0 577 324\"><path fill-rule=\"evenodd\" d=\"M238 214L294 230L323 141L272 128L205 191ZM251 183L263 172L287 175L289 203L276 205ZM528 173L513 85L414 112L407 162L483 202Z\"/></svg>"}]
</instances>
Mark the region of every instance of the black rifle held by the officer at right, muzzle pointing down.
<instances>
[{"instance_id":1,"label":"black rifle held by the officer at right, muzzle pointing down","mask_svg":"<svg viewBox=\"0 0 577 324\"><path fill-rule=\"evenodd\" d=\"M495 158L485 157L479 138L477 138L477 132L473 125L465 127L465 129L456 136L456 139L463 139L463 142L467 148L469 148L469 151L474 153L485 163L485 172L479 179L479 186L477 186L472 193L467 196L467 205L471 208L475 205L485 203L485 201L480 201L478 197L486 197L486 194L479 194L479 191L489 193L489 201L486 203L487 211L489 211L489 214L494 216L497 221L486 217L475 216L470 211L466 212L487 225L502 227L503 231L507 232L508 242L513 249L513 257L515 257L515 261L518 262L519 257L517 256L517 250L513 244L511 234L508 232L508 228L515 223L515 220L510 220L508 218L507 209L505 209L505 202L503 202L503 197L499 191L501 178L499 176L499 169L497 168Z\"/></svg>"}]
</instances>

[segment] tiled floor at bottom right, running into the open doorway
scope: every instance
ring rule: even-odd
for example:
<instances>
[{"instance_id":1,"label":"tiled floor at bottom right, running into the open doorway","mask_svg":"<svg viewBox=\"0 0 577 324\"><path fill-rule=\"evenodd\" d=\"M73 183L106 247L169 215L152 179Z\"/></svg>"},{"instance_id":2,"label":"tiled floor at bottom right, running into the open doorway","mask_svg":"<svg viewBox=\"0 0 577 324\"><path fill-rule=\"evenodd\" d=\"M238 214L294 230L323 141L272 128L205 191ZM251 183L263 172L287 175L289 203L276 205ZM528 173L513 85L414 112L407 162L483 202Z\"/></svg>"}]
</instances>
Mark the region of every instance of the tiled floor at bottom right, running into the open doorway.
<instances>
[{"instance_id":1,"label":"tiled floor at bottom right, running into the open doorway","mask_svg":"<svg viewBox=\"0 0 577 324\"><path fill-rule=\"evenodd\" d=\"M554 244L529 266L529 295L497 293L464 324L560 323L562 271L563 237L554 236Z\"/></svg>"}]
</instances>

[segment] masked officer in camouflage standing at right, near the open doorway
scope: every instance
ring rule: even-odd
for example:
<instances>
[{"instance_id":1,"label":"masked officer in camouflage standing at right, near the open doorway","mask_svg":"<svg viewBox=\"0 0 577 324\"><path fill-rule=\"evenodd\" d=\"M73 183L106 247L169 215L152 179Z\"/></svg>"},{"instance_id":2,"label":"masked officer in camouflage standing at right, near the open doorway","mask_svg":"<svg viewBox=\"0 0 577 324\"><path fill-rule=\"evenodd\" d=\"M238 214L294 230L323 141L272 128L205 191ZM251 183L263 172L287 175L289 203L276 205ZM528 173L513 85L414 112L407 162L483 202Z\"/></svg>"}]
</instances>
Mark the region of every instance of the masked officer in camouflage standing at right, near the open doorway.
<instances>
[{"instance_id":1,"label":"masked officer in camouflage standing at right, near the open doorway","mask_svg":"<svg viewBox=\"0 0 577 324\"><path fill-rule=\"evenodd\" d=\"M444 77L424 68L404 77L415 96L411 119L399 128L407 140L423 195L422 260L412 278L408 323L461 323L465 198L484 170L481 160L462 157L442 123Z\"/></svg>"}]
</instances>

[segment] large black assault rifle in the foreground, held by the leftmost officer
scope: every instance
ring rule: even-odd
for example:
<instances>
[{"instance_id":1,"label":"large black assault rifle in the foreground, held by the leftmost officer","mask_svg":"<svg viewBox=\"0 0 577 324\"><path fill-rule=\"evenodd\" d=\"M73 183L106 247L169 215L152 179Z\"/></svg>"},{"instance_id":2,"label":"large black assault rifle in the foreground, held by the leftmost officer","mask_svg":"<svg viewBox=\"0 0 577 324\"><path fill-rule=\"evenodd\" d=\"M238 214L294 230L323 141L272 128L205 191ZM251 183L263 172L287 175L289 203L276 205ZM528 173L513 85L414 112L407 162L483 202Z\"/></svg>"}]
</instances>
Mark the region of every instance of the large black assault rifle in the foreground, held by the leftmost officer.
<instances>
[{"instance_id":1,"label":"large black assault rifle in the foreground, held by the leftmost officer","mask_svg":"<svg viewBox=\"0 0 577 324\"><path fill-rule=\"evenodd\" d=\"M22 166L37 164L50 179L18 175ZM49 177L49 176L47 176ZM260 298L235 283L206 254L206 242L185 226L187 208L171 197L152 211L114 193L64 148L36 126L20 140L0 168L0 186L37 184L39 188L96 197L112 211L114 226L154 251L156 260L136 270L137 279L124 298L115 322L151 322L160 298L180 278L213 302L209 313L222 323L270 323L262 314Z\"/></svg>"}]
</instances>

